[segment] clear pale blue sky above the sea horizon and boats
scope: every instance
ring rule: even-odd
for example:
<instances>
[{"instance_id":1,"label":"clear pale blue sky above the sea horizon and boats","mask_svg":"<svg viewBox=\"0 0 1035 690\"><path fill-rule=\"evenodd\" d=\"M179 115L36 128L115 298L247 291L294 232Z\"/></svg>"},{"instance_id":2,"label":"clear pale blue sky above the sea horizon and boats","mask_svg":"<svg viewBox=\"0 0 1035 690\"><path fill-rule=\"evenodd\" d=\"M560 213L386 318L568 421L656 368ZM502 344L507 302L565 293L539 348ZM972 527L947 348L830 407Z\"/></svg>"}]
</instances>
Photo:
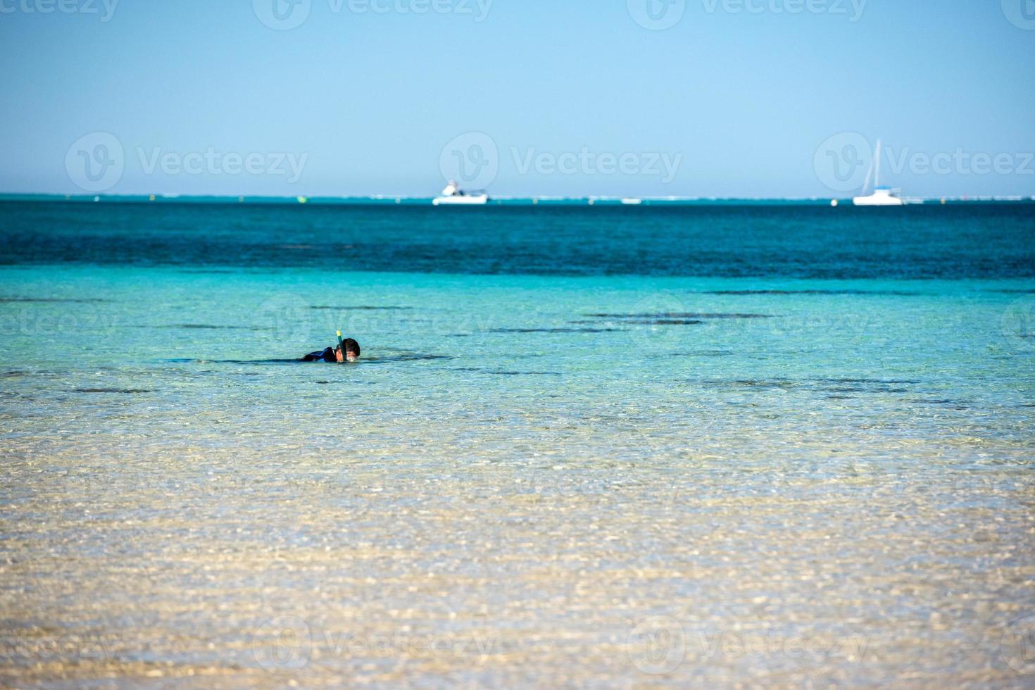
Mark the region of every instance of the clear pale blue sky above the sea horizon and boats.
<instances>
[{"instance_id":1,"label":"clear pale blue sky above the sea horizon and boats","mask_svg":"<svg viewBox=\"0 0 1035 690\"><path fill-rule=\"evenodd\" d=\"M0 192L1035 194L1035 0L0 0Z\"/></svg>"}]
</instances>

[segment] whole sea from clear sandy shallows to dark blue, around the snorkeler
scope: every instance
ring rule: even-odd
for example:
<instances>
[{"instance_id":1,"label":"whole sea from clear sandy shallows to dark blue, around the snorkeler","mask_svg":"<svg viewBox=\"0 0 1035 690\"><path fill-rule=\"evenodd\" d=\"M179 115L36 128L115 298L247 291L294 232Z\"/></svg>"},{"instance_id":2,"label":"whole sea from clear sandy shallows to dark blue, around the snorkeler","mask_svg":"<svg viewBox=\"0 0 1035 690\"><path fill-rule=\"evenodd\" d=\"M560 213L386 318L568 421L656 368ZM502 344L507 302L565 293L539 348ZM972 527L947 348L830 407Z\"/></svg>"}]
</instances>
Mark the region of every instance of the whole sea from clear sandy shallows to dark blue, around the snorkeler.
<instances>
[{"instance_id":1,"label":"whole sea from clear sandy shallows to dark blue, around the snorkeler","mask_svg":"<svg viewBox=\"0 0 1035 690\"><path fill-rule=\"evenodd\" d=\"M1031 680L1031 211L82 208L3 216L6 683Z\"/></svg>"}]
</instances>

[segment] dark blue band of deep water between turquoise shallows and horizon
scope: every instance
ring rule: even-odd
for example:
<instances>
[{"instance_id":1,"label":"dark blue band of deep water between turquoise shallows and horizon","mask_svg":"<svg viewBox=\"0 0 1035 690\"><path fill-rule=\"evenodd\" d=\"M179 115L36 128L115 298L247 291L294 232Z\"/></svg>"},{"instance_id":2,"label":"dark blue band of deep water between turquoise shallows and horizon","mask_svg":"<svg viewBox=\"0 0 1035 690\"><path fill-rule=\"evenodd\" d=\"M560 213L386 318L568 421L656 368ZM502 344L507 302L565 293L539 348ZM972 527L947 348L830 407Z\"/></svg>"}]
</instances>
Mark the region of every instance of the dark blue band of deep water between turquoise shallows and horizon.
<instances>
[{"instance_id":1,"label":"dark blue band of deep water between turquoise shallows and horizon","mask_svg":"<svg viewBox=\"0 0 1035 690\"><path fill-rule=\"evenodd\" d=\"M1035 204L0 202L0 265L786 278L1035 276Z\"/></svg>"}]
</instances>

